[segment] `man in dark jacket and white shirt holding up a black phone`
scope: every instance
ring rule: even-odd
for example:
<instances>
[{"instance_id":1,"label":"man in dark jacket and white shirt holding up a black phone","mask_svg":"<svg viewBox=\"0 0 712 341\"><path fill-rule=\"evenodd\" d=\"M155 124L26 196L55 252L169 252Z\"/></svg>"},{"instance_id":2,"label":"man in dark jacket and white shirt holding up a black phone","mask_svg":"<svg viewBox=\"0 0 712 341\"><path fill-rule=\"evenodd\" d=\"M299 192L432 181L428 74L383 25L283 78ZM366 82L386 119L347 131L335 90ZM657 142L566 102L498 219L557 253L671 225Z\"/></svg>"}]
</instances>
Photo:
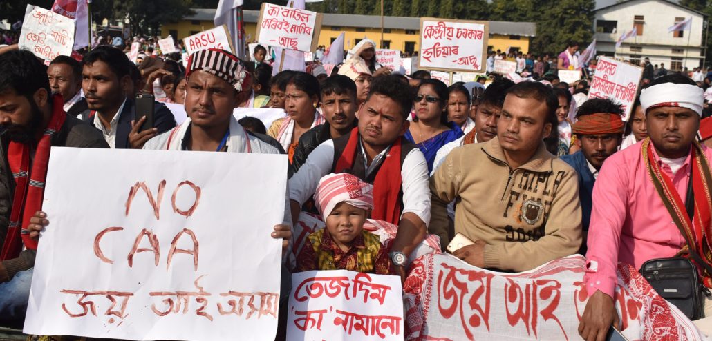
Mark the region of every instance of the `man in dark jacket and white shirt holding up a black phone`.
<instances>
[{"instance_id":1,"label":"man in dark jacket and white shirt holding up a black phone","mask_svg":"<svg viewBox=\"0 0 712 341\"><path fill-rule=\"evenodd\" d=\"M89 105L85 122L99 129L111 148L140 148L132 145L129 135L131 121L136 116L132 89L130 60L124 53L110 46L99 46L84 56L82 87ZM145 118L136 124L143 124ZM162 103L154 102L153 128L142 131L141 141L162 134L176 126L171 111ZM136 141L137 139L135 139Z\"/></svg>"}]
</instances>

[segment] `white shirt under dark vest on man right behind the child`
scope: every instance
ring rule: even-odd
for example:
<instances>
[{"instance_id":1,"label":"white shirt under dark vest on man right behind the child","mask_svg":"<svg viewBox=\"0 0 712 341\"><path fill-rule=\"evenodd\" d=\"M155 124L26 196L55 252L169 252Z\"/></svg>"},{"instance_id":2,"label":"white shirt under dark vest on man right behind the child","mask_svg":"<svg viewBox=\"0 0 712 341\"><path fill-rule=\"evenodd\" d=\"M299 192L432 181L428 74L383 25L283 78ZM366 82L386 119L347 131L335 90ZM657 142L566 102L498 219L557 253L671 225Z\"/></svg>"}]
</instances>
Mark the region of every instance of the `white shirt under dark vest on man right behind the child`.
<instances>
[{"instance_id":1,"label":"white shirt under dark vest on man right behind the child","mask_svg":"<svg viewBox=\"0 0 712 341\"><path fill-rule=\"evenodd\" d=\"M366 169L366 174L370 174L380 158L383 158L388 149L379 153L370 166ZM363 154L366 161L366 154ZM399 157L399 156L396 156ZM291 179L289 179L289 198L303 205L316 191L319 180L324 175L331 173L334 163L334 141L328 140L312 151L304 165L299 168ZM367 164L367 162L365 162ZM425 224L430 223L430 188L428 178L428 164L425 156L418 148L413 148L408 153L401 166L401 177L403 179L403 210L401 217L406 212L417 215Z\"/></svg>"}]
</instances>

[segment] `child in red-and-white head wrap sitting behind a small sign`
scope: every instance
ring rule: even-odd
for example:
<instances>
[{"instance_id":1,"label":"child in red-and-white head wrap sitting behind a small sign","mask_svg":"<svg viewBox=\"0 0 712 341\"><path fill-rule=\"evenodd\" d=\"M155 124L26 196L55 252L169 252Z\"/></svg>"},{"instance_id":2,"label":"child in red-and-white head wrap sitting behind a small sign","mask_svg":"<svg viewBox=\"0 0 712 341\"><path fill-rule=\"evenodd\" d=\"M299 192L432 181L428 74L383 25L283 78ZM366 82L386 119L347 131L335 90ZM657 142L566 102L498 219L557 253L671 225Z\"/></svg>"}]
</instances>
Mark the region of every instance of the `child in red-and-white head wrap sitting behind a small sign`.
<instances>
[{"instance_id":1,"label":"child in red-and-white head wrap sitting behind a small sign","mask_svg":"<svg viewBox=\"0 0 712 341\"><path fill-rule=\"evenodd\" d=\"M349 270L390 274L388 252L363 229L373 209L373 186L354 175L329 174L319 181L315 204L326 227L307 237L297 271Z\"/></svg>"}]
</instances>

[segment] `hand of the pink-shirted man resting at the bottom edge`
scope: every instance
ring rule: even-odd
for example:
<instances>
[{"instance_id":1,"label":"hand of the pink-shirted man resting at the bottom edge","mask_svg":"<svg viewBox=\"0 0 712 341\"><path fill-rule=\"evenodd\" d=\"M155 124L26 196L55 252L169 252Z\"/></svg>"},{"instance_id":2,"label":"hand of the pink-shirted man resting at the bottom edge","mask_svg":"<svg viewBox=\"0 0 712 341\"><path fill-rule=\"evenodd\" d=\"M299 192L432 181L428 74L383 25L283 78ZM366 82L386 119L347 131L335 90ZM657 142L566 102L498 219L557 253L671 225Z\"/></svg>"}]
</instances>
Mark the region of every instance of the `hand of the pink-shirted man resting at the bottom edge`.
<instances>
[{"instance_id":1,"label":"hand of the pink-shirted man resting at the bottom edge","mask_svg":"<svg viewBox=\"0 0 712 341\"><path fill-rule=\"evenodd\" d=\"M602 291L596 291L586 303L579 323L579 335L586 341L604 341L608 329L613 324L620 330L620 318L613 304L613 298Z\"/></svg>"}]
</instances>

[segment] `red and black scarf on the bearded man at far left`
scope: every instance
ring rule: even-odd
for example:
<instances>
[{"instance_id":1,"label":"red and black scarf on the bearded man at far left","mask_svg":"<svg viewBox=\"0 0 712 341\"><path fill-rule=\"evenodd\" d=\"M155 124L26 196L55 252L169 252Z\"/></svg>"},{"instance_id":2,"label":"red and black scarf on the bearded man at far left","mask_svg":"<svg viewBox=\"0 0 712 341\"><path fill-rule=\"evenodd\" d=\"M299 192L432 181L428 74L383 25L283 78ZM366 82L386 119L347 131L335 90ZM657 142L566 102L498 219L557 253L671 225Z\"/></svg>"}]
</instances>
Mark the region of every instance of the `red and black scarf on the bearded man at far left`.
<instances>
[{"instance_id":1,"label":"red and black scarf on the bearded man at far left","mask_svg":"<svg viewBox=\"0 0 712 341\"><path fill-rule=\"evenodd\" d=\"M35 212L42 209L44 181L47 175L52 135L59 131L67 118L61 96L52 97L52 108L52 117L44 135L37 144L31 172L29 170L30 145L10 142L7 160L15 178L15 196L12 200L10 226L7 229L2 254L0 254L1 260L19 256L23 244L28 249L37 249L37 240L30 238L30 232L26 227L30 224L30 218L35 215Z\"/></svg>"}]
</instances>

